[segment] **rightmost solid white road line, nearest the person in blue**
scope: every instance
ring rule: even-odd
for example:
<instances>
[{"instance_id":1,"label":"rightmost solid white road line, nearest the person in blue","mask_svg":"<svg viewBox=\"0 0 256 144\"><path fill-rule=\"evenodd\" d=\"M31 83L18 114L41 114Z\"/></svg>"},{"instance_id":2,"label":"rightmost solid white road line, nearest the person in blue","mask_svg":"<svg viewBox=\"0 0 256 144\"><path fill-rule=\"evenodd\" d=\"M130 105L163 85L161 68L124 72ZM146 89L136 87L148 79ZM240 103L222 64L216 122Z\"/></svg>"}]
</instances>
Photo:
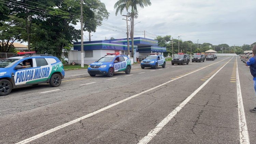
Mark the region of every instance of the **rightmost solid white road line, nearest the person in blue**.
<instances>
[{"instance_id":1,"label":"rightmost solid white road line, nearest the person in blue","mask_svg":"<svg viewBox=\"0 0 256 144\"><path fill-rule=\"evenodd\" d=\"M237 61L237 58L236 58ZM250 144L248 129L244 113L244 105L242 92L240 87L240 80L237 66L237 101L238 101L238 115L239 115L239 132L240 132L240 144Z\"/></svg>"}]
</instances>

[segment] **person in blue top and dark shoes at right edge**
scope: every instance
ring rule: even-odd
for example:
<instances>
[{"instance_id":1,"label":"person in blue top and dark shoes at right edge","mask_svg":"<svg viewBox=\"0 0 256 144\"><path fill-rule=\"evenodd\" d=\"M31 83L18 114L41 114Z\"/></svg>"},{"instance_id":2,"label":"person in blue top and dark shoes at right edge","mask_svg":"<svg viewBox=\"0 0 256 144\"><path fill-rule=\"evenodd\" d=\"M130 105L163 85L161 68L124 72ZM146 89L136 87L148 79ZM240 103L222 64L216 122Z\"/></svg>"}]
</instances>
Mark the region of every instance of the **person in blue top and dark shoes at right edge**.
<instances>
[{"instance_id":1,"label":"person in blue top and dark shoes at right edge","mask_svg":"<svg viewBox=\"0 0 256 144\"><path fill-rule=\"evenodd\" d=\"M252 57L245 63L245 66L250 66L250 71L253 76L253 81L254 81L254 91L256 95L256 44L252 48L253 55ZM250 110L250 112L256 112L256 107L254 109Z\"/></svg>"}]
</instances>

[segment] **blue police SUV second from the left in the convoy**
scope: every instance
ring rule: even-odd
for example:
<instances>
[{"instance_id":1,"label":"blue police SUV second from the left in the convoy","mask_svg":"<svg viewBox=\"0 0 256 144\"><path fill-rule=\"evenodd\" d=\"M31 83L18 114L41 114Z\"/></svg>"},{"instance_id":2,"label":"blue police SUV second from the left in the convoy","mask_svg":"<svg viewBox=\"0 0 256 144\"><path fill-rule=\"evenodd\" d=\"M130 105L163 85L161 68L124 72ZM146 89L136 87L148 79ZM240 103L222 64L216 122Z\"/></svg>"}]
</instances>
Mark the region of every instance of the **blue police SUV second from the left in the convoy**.
<instances>
[{"instance_id":1,"label":"blue police SUV second from the left in the convoy","mask_svg":"<svg viewBox=\"0 0 256 144\"><path fill-rule=\"evenodd\" d=\"M129 74L131 72L131 60L126 55L107 53L98 61L89 64L87 71L90 76L106 75L112 77L114 73L123 71Z\"/></svg>"}]
</instances>

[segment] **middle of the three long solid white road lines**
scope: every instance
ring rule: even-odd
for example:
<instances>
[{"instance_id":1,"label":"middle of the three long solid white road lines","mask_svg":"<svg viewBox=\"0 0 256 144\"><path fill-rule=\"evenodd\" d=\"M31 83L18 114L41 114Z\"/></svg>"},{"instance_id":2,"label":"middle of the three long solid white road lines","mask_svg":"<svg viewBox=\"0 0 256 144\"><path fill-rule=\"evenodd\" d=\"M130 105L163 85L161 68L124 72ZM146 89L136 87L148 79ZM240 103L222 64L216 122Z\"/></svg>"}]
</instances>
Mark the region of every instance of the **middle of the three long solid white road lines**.
<instances>
[{"instance_id":1,"label":"middle of the three long solid white road lines","mask_svg":"<svg viewBox=\"0 0 256 144\"><path fill-rule=\"evenodd\" d=\"M233 59L233 58L231 58ZM230 59L230 60L231 60ZM230 61L229 60L229 61ZM228 62L229 62L228 61ZM227 63L228 63L227 62ZM227 64L226 63L226 64ZM224 66L226 66L224 64ZM223 66L223 67L224 67ZM222 67L222 68L223 68ZM221 69L222 69L221 68ZM167 124L169 121L221 70L219 69L215 74L213 74L207 81L205 81L196 91L194 91L189 97L187 97L179 106L177 106L166 118L164 118L153 130L151 130L147 136L141 139L137 144L147 144L150 142L154 136Z\"/></svg>"}]
</instances>

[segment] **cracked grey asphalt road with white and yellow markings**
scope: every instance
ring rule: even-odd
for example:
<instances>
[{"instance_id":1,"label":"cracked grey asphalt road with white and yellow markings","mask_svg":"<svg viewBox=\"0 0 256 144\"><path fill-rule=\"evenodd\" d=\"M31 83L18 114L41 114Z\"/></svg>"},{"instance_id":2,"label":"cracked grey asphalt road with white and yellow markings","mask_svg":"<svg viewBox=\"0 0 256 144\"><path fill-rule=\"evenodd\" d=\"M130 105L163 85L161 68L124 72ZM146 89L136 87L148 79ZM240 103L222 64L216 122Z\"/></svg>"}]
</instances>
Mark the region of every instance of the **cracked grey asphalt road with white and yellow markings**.
<instances>
[{"instance_id":1,"label":"cracked grey asphalt road with white and yellow markings","mask_svg":"<svg viewBox=\"0 0 256 144\"><path fill-rule=\"evenodd\" d=\"M59 87L0 97L0 143L255 144L254 106L239 57L156 70L133 64L113 77L70 70Z\"/></svg>"}]
</instances>

